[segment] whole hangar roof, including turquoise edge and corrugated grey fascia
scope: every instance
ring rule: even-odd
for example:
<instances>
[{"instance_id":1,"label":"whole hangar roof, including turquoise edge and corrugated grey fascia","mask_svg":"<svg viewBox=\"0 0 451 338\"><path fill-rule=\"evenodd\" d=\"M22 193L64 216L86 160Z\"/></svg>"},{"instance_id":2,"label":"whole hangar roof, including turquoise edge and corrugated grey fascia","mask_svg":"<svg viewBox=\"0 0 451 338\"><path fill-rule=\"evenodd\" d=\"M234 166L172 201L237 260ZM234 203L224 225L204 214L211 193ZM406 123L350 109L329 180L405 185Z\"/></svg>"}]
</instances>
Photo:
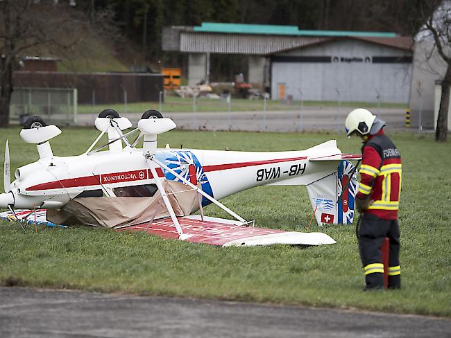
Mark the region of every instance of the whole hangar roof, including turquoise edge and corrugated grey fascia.
<instances>
[{"instance_id":1,"label":"whole hangar roof, including turquoise edge and corrugated grey fascia","mask_svg":"<svg viewBox=\"0 0 451 338\"><path fill-rule=\"evenodd\" d=\"M163 28L162 49L183 53L271 55L341 39L411 51L411 37L395 33L299 30L297 26L216 24Z\"/></svg>"}]
</instances>

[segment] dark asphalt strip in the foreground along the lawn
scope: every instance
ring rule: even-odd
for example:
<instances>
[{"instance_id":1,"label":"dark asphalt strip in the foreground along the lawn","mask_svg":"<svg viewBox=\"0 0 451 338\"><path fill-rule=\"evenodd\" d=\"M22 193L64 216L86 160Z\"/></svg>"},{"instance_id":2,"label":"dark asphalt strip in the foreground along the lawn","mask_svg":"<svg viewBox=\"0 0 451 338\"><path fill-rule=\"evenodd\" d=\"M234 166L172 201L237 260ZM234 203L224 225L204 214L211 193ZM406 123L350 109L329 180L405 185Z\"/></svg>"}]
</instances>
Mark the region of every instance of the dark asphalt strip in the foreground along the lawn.
<instances>
[{"instance_id":1,"label":"dark asphalt strip in the foreground along the lawn","mask_svg":"<svg viewBox=\"0 0 451 338\"><path fill-rule=\"evenodd\" d=\"M0 288L0 337L451 337L432 317Z\"/></svg>"}]
</instances>

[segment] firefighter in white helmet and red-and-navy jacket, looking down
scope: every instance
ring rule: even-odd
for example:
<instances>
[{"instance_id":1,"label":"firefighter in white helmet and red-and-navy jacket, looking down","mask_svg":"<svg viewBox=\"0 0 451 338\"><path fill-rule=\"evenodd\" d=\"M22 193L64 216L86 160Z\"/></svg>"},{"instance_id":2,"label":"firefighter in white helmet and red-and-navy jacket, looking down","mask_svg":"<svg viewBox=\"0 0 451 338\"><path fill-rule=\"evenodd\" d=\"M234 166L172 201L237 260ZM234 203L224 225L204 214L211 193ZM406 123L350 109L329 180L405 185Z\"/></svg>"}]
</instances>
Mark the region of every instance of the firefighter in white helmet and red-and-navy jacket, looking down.
<instances>
[{"instance_id":1,"label":"firefighter in white helmet and red-and-navy jacket, looking down","mask_svg":"<svg viewBox=\"0 0 451 338\"><path fill-rule=\"evenodd\" d=\"M385 122L366 109L355 109L345 122L348 136L363 140L356 208L361 214L358 240L364 266L365 290L384 287L380 248L386 237L389 249L389 288L401 286L398 208L401 191L401 156L384 134Z\"/></svg>"}]
</instances>

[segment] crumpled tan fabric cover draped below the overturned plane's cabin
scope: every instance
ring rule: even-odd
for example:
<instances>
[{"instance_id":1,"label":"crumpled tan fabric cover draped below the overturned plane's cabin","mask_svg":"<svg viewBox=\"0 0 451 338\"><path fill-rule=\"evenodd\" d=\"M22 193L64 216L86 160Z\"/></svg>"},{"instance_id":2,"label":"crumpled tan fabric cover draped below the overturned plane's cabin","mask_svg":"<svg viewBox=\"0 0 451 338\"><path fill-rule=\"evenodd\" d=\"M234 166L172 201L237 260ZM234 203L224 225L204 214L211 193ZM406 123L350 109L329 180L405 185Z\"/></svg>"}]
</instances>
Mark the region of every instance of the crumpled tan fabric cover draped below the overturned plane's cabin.
<instances>
[{"instance_id":1,"label":"crumpled tan fabric cover draped below the overturned plane's cabin","mask_svg":"<svg viewBox=\"0 0 451 338\"><path fill-rule=\"evenodd\" d=\"M198 209L196 191L176 181L163 181L169 202L177 216ZM189 191L185 191L189 190ZM54 224L91 225L117 228L169 217L160 191L153 197L80 197L61 209L48 210L46 219Z\"/></svg>"}]
</instances>

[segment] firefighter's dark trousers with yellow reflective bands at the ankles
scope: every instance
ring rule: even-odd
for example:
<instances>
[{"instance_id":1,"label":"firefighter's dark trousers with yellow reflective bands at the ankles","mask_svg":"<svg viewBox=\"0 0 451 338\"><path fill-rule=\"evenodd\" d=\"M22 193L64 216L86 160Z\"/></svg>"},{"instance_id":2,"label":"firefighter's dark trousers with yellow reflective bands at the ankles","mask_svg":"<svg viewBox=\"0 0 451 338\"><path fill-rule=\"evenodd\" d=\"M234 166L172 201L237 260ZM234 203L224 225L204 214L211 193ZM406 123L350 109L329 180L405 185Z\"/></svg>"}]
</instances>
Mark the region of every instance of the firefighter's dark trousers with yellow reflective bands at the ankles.
<instances>
[{"instance_id":1,"label":"firefighter's dark trousers with yellow reflective bands at the ankles","mask_svg":"<svg viewBox=\"0 0 451 338\"><path fill-rule=\"evenodd\" d=\"M380 247L384 239L390 240L389 287L401 286L400 276L400 229L398 220L383 220L364 213L359 224L359 252L364 266L366 289L384 287L384 269Z\"/></svg>"}]
</instances>

